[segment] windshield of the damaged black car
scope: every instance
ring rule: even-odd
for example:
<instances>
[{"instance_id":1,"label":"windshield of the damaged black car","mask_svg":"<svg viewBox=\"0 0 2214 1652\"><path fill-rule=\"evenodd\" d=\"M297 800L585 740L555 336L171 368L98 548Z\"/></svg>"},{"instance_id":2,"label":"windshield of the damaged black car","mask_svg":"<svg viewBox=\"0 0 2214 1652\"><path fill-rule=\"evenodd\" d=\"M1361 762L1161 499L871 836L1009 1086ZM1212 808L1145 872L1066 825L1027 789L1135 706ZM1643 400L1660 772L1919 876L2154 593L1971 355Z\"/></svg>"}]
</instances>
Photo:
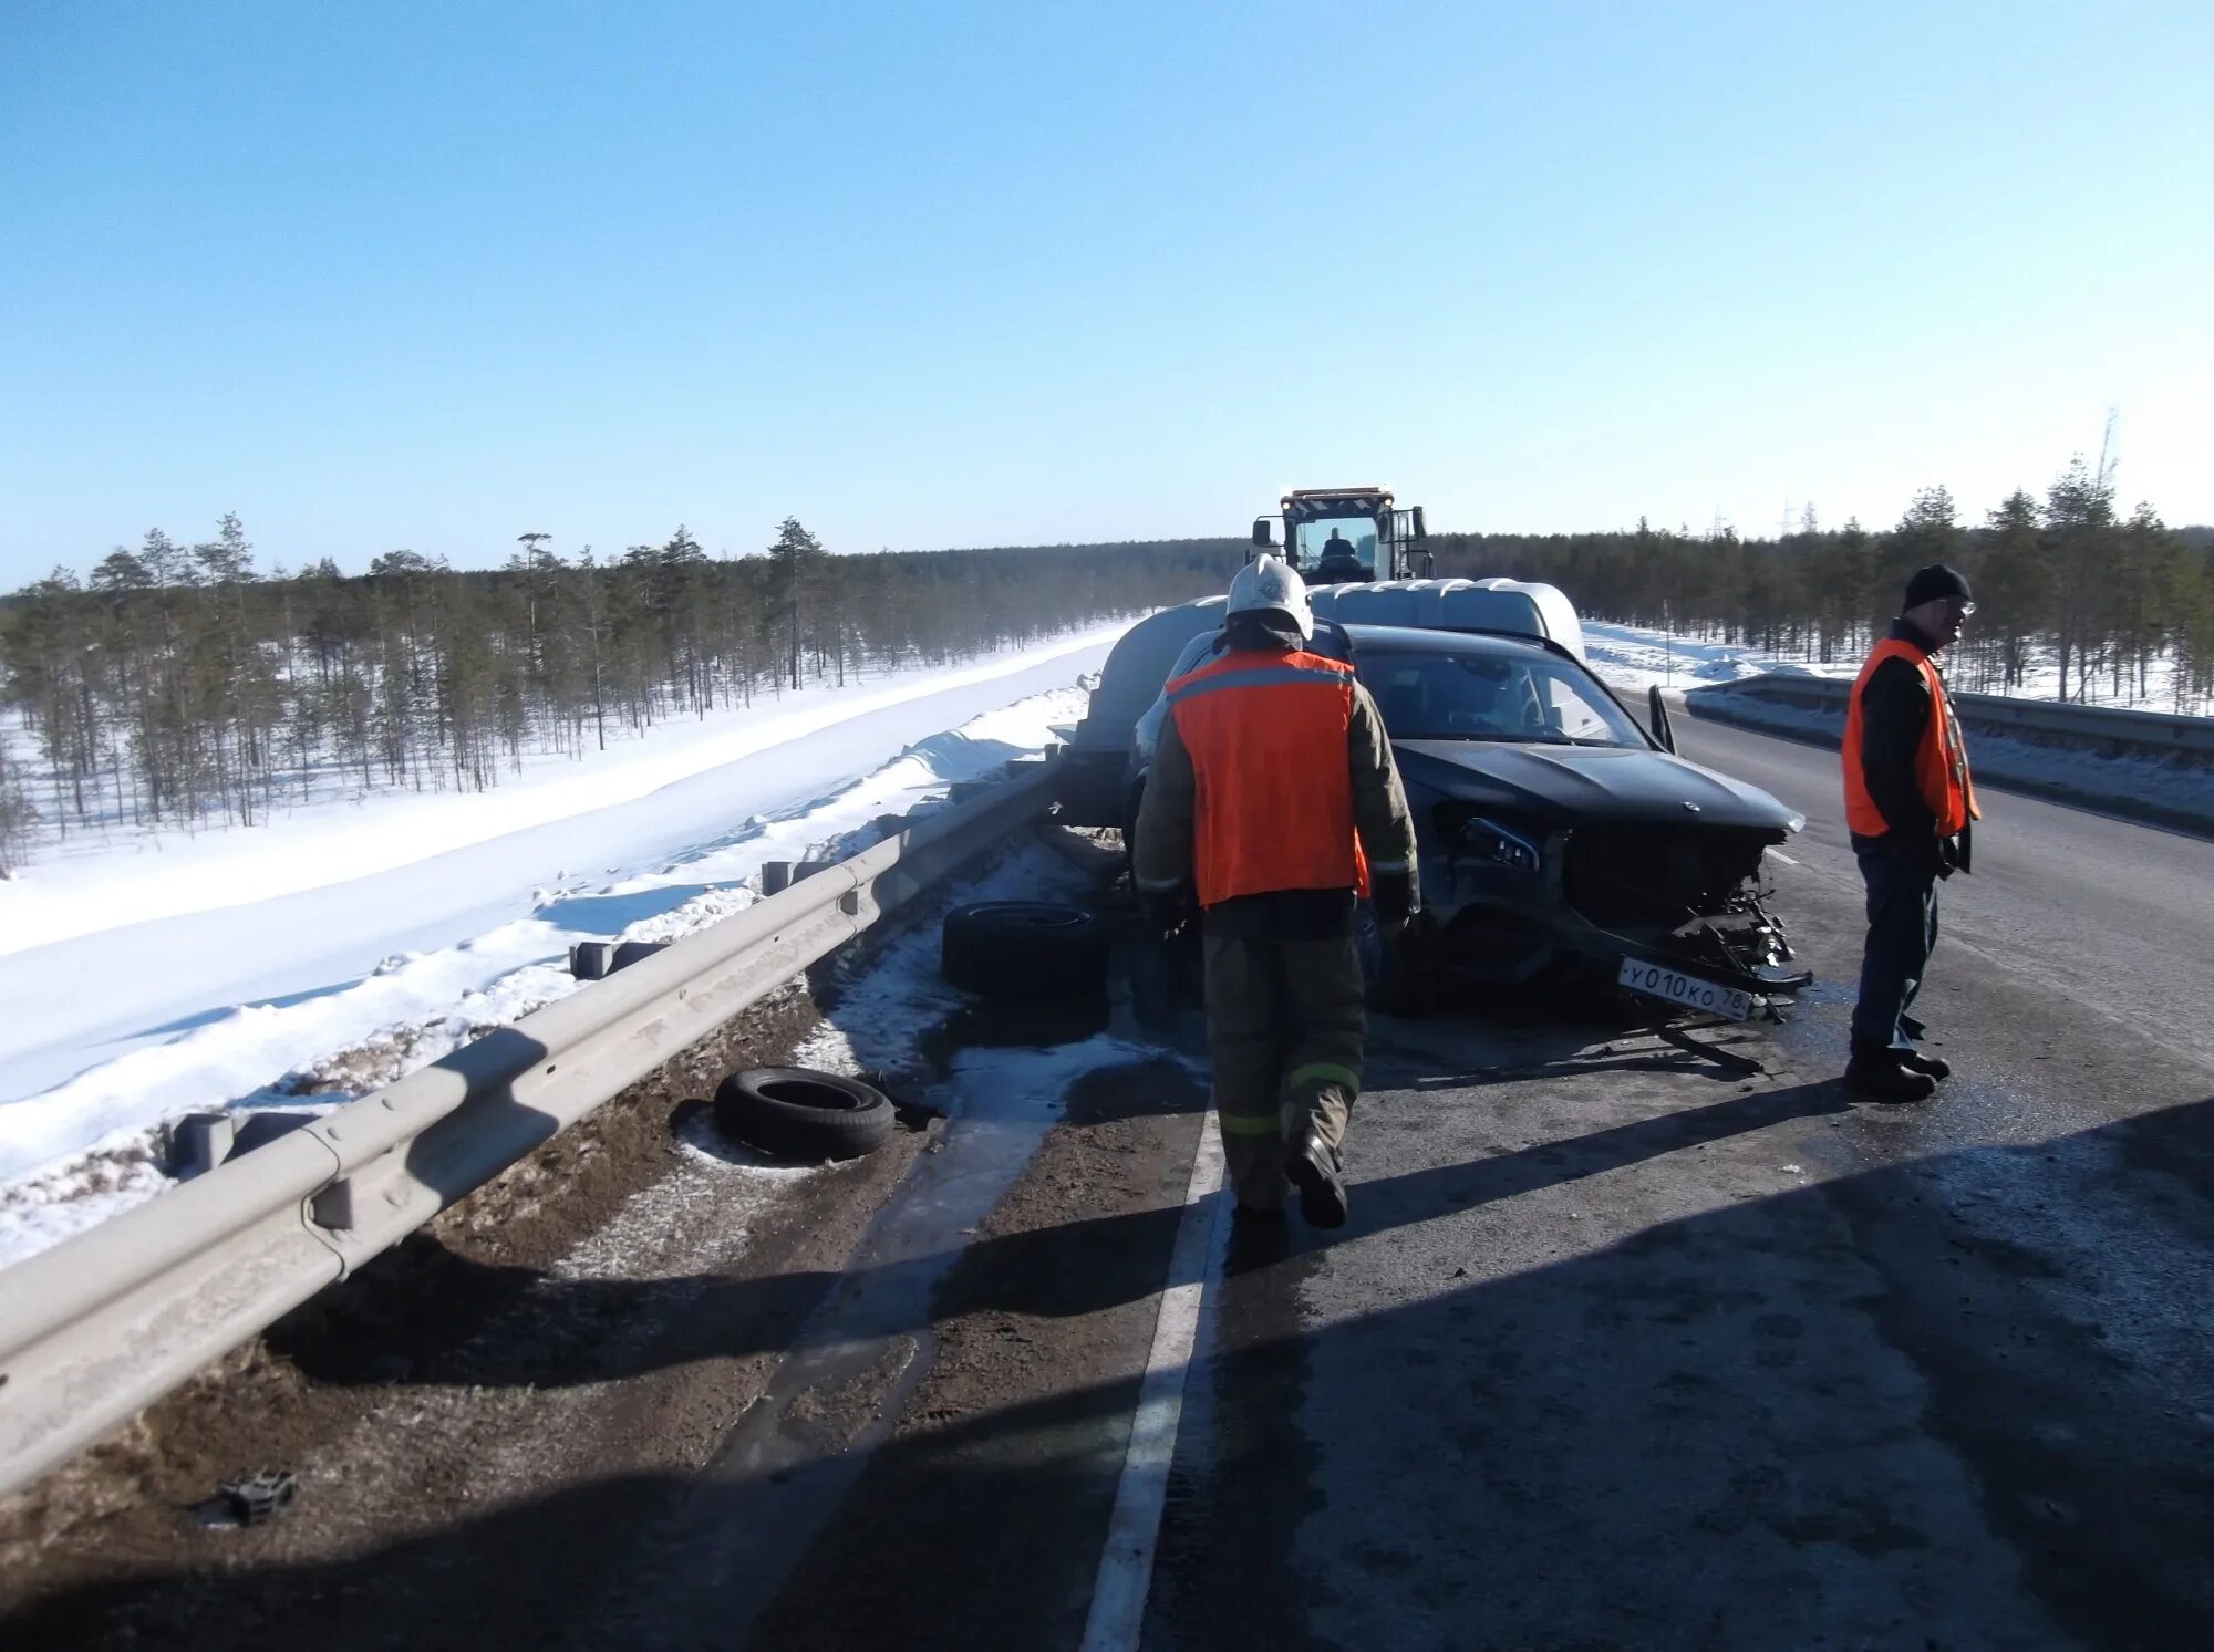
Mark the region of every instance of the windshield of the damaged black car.
<instances>
[{"instance_id":1,"label":"windshield of the damaged black car","mask_svg":"<svg viewBox=\"0 0 2214 1652\"><path fill-rule=\"evenodd\" d=\"M1638 726L1570 660L1379 651L1362 682L1393 740L1645 746Z\"/></svg>"}]
</instances>

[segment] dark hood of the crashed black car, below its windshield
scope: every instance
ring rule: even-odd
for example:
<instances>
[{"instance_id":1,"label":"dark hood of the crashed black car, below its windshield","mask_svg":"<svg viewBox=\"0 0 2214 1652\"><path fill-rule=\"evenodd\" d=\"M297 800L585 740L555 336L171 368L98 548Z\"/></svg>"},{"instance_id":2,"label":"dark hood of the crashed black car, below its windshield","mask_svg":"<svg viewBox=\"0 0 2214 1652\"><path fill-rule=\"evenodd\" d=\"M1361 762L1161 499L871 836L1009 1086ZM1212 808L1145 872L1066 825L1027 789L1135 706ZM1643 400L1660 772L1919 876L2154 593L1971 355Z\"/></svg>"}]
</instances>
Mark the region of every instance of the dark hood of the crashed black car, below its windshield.
<instances>
[{"instance_id":1,"label":"dark hood of the crashed black car, below its windshield","mask_svg":"<svg viewBox=\"0 0 2214 1652\"><path fill-rule=\"evenodd\" d=\"M1444 797L1574 824L1771 826L1807 817L1760 786L1665 751L1634 746L1510 746L1490 740L1395 740L1399 775Z\"/></svg>"}]
</instances>

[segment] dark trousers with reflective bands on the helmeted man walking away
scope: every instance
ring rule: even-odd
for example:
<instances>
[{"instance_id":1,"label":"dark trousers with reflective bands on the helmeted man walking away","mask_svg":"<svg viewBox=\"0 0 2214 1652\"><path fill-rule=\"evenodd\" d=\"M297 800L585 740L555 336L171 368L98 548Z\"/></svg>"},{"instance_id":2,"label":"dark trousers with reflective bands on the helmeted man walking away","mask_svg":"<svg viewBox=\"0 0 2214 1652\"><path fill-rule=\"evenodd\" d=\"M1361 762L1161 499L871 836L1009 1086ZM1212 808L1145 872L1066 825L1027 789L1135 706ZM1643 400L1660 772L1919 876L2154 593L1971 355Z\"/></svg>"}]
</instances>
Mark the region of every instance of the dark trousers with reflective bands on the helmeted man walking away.
<instances>
[{"instance_id":1,"label":"dark trousers with reflective bands on the helmeted man walking away","mask_svg":"<svg viewBox=\"0 0 2214 1652\"><path fill-rule=\"evenodd\" d=\"M1231 1191L1244 1209L1284 1202L1284 1149L1313 1129L1346 1138L1362 1087L1362 959L1351 890L1286 890L1204 919L1207 1045Z\"/></svg>"}]
</instances>

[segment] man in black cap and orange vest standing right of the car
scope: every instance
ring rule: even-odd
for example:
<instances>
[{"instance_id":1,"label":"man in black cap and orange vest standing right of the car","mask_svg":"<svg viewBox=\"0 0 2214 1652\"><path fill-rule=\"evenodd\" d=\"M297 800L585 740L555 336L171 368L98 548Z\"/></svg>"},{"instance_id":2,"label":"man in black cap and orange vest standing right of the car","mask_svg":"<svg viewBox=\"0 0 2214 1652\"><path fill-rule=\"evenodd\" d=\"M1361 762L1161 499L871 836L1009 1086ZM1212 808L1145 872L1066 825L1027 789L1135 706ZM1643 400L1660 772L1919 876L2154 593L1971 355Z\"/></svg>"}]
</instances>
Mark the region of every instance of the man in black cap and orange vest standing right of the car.
<instances>
[{"instance_id":1,"label":"man in black cap and orange vest standing right of the car","mask_svg":"<svg viewBox=\"0 0 2214 1652\"><path fill-rule=\"evenodd\" d=\"M1917 571L1846 702L1844 822L1869 886L1869 946L1844 1083L1871 1101L1928 1101L1953 1072L1915 1047L1926 1028L1911 1010L1937 946L1937 881L1968 870L1982 813L1937 669L1970 613L1968 580L1955 569Z\"/></svg>"}]
</instances>

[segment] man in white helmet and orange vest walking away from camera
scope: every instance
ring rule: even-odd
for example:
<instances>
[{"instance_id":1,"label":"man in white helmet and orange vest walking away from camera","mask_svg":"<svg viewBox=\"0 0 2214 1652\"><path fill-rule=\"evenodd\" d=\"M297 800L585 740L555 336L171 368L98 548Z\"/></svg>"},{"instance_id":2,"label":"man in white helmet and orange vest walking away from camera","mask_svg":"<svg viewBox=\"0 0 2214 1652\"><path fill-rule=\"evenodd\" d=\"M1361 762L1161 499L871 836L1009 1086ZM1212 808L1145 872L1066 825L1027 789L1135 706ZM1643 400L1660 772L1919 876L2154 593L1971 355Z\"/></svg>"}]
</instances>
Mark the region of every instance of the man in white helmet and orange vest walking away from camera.
<instances>
[{"instance_id":1,"label":"man in white helmet and orange vest walking away from camera","mask_svg":"<svg viewBox=\"0 0 2214 1652\"><path fill-rule=\"evenodd\" d=\"M1397 937L1419 904L1415 822L1353 667L1311 653L1291 565L1231 580L1227 649L1167 686L1138 810L1140 915L1198 910L1207 1043L1238 1209L1275 1216L1286 1180L1315 1227L1346 1220L1346 1118L1362 1087L1355 899Z\"/></svg>"}]
</instances>

